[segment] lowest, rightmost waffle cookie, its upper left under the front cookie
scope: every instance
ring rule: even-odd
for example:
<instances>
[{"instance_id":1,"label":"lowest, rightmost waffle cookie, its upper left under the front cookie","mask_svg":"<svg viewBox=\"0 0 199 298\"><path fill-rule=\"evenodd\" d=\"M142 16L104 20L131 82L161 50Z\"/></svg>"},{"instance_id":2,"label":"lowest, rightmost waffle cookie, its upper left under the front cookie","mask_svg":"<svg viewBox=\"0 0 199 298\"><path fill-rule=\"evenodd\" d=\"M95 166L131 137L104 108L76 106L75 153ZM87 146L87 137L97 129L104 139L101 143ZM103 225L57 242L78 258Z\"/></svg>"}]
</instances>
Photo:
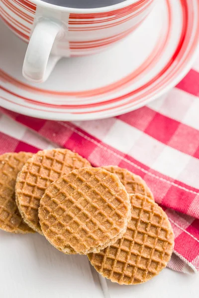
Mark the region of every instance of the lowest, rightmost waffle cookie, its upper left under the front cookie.
<instances>
[{"instance_id":1,"label":"lowest, rightmost waffle cookie, its upper left under the front cookie","mask_svg":"<svg viewBox=\"0 0 199 298\"><path fill-rule=\"evenodd\" d=\"M147 282L167 266L174 233L166 213L151 199L130 195L131 221L123 238L100 253L88 255L103 276L120 285Z\"/></svg>"}]
</instances>

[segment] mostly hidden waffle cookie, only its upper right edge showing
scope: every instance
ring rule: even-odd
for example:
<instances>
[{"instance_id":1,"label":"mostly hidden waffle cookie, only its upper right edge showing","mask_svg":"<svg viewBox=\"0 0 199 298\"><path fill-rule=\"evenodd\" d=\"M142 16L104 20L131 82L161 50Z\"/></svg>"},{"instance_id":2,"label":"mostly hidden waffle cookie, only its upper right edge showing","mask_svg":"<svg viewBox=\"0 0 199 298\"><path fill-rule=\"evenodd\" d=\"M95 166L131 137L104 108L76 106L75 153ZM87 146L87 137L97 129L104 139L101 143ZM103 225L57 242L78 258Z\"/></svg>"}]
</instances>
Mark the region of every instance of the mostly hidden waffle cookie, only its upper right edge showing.
<instances>
[{"instance_id":1,"label":"mostly hidden waffle cookie, only its upper right edge showing","mask_svg":"<svg viewBox=\"0 0 199 298\"><path fill-rule=\"evenodd\" d=\"M154 200L152 192L150 191L146 182L140 176L131 173L127 169L123 169L115 165L104 166L103 168L119 177L127 193L141 194Z\"/></svg>"}]
</instances>

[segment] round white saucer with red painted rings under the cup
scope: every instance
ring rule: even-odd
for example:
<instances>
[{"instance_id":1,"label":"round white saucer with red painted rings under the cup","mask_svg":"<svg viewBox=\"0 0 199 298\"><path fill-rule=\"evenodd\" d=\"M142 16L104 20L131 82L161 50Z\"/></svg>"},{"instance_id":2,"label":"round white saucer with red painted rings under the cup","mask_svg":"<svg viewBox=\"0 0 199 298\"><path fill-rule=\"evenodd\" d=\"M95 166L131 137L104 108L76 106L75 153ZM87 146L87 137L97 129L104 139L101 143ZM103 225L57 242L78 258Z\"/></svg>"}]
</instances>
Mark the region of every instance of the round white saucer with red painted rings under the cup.
<instances>
[{"instance_id":1,"label":"round white saucer with red painted rings under the cup","mask_svg":"<svg viewBox=\"0 0 199 298\"><path fill-rule=\"evenodd\" d=\"M51 120L107 118L137 109L177 84L199 45L199 1L159 0L142 25L101 54L62 59L47 82L21 74L27 45L0 22L0 106Z\"/></svg>"}]
</instances>

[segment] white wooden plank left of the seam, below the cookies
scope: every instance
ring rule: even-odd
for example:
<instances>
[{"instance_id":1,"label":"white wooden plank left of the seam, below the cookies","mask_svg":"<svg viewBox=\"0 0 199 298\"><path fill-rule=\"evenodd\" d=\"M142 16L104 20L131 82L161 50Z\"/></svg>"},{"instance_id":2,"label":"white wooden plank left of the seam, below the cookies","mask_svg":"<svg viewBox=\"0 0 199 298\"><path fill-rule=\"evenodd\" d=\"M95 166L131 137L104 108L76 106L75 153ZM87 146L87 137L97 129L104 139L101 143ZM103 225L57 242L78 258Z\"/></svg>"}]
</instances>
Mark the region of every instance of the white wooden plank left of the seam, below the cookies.
<instances>
[{"instance_id":1,"label":"white wooden plank left of the seam, below the cookies","mask_svg":"<svg viewBox=\"0 0 199 298\"><path fill-rule=\"evenodd\" d=\"M65 255L39 234L0 231L0 298L103 298L86 256Z\"/></svg>"}]
</instances>

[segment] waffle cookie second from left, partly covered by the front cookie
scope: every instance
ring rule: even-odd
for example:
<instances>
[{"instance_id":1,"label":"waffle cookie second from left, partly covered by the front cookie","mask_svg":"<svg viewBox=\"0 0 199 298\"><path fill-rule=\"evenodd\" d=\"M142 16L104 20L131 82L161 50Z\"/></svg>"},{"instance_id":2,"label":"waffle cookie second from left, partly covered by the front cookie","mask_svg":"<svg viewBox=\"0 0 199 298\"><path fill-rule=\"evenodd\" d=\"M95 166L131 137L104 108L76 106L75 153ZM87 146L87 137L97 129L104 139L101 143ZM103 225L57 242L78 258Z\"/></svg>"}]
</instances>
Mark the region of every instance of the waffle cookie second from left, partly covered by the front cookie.
<instances>
[{"instance_id":1,"label":"waffle cookie second from left, partly covered by the front cookie","mask_svg":"<svg viewBox=\"0 0 199 298\"><path fill-rule=\"evenodd\" d=\"M38 151L25 163L16 180L16 203L24 221L35 231L42 234L38 208L46 188L61 175L81 167L91 164L68 149Z\"/></svg>"}]
</instances>

